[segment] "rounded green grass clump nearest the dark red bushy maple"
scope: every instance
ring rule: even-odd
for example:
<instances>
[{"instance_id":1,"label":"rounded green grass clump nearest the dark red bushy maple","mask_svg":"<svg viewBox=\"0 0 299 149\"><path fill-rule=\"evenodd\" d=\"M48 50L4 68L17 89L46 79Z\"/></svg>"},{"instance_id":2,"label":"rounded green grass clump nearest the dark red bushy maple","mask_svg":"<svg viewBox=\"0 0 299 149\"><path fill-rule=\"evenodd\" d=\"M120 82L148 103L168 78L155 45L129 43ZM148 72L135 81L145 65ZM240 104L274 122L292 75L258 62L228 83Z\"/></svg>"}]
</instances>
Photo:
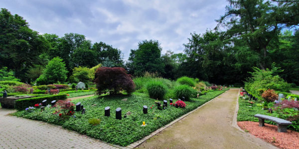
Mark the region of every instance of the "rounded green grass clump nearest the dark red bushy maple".
<instances>
[{"instance_id":1,"label":"rounded green grass clump nearest the dark red bushy maple","mask_svg":"<svg viewBox=\"0 0 299 149\"><path fill-rule=\"evenodd\" d=\"M167 92L167 87L161 81L151 80L147 84L147 90L150 98L162 100Z\"/></svg>"}]
</instances>

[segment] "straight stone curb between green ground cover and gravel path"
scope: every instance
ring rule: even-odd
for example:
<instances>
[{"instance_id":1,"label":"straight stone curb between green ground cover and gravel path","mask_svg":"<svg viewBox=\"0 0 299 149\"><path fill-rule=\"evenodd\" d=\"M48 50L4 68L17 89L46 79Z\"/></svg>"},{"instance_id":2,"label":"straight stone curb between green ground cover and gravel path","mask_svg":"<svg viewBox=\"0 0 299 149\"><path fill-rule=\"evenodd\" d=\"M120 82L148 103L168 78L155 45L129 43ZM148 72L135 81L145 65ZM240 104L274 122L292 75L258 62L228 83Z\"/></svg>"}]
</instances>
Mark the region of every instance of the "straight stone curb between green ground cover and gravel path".
<instances>
[{"instance_id":1,"label":"straight stone curb between green ground cover and gravel path","mask_svg":"<svg viewBox=\"0 0 299 149\"><path fill-rule=\"evenodd\" d=\"M229 91L229 90L227 90L227 91ZM225 91L224 93L226 93L227 91ZM222 93L222 94L224 94L224 93ZM186 113L186 114L180 116L179 118L175 119L174 121L170 122L169 124L167 124L167 125L165 125L165 126L159 128L159 129L155 130L155 131L152 132L149 136L146 136L146 137L144 137L143 139L141 139L141 140L139 140L139 141L136 141L136 142L132 143L131 145L127 146L126 148L127 148L127 149L128 149L128 148L129 148L129 149L136 148L137 146L141 145L143 142L147 141L147 140L148 140L149 138L151 138L152 136L156 135L157 133L161 132L162 130L166 129L167 127L171 126L172 124L178 122L179 120L181 120L181 119L183 119L184 117L188 116L188 115L191 114L192 112L198 110L199 108L203 107L203 106L206 105L207 103L209 103L209 102L213 101L214 99L218 98L218 97L221 96L222 94L220 94L220 95L218 95L217 97L215 97L215 98L209 100L208 102L206 102L206 103L204 103L203 105L197 107L196 109L194 109L194 110L192 110L192 111L190 111L190 112L188 112L188 113Z\"/></svg>"}]
</instances>

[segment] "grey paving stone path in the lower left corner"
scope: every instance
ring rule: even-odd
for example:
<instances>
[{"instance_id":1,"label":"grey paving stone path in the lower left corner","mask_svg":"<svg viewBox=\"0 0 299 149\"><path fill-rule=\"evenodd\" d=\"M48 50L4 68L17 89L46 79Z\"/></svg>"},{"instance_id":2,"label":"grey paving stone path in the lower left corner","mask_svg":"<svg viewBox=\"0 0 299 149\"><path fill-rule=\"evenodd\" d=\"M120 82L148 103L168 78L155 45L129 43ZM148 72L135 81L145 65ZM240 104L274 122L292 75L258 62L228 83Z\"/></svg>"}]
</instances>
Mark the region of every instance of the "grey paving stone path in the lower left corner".
<instances>
[{"instance_id":1,"label":"grey paving stone path in the lower left corner","mask_svg":"<svg viewBox=\"0 0 299 149\"><path fill-rule=\"evenodd\" d=\"M7 115L13 112L0 108L0 149L119 149L60 126Z\"/></svg>"}]
</instances>

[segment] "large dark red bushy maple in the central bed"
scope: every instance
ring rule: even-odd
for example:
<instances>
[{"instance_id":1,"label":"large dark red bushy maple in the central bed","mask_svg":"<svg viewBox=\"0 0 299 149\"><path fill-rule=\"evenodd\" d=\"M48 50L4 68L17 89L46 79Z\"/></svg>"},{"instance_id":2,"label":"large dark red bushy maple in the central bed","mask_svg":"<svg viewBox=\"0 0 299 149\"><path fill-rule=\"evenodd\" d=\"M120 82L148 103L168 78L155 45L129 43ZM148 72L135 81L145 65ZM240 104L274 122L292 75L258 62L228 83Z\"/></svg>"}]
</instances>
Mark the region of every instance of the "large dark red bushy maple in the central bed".
<instances>
[{"instance_id":1,"label":"large dark red bushy maple in the central bed","mask_svg":"<svg viewBox=\"0 0 299 149\"><path fill-rule=\"evenodd\" d=\"M126 90L131 94L135 89L135 84L130 74L124 68L98 68L95 75L95 83L99 94L105 89L111 90L110 93L117 93Z\"/></svg>"}]
</instances>

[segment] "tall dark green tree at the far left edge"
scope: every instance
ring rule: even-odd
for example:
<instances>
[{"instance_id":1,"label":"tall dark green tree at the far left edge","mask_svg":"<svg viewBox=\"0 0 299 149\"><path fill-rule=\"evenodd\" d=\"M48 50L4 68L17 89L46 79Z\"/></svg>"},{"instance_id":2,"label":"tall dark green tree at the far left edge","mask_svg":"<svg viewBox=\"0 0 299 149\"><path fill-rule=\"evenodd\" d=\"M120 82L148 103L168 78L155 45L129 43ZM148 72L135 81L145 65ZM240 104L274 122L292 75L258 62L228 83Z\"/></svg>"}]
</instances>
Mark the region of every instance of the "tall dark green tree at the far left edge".
<instances>
[{"instance_id":1,"label":"tall dark green tree at the far left edge","mask_svg":"<svg viewBox=\"0 0 299 149\"><path fill-rule=\"evenodd\" d=\"M29 28L23 17L12 15L7 9L0 11L0 67L13 70L22 81L33 64L40 64L39 55L49 49L47 41Z\"/></svg>"}]
</instances>

